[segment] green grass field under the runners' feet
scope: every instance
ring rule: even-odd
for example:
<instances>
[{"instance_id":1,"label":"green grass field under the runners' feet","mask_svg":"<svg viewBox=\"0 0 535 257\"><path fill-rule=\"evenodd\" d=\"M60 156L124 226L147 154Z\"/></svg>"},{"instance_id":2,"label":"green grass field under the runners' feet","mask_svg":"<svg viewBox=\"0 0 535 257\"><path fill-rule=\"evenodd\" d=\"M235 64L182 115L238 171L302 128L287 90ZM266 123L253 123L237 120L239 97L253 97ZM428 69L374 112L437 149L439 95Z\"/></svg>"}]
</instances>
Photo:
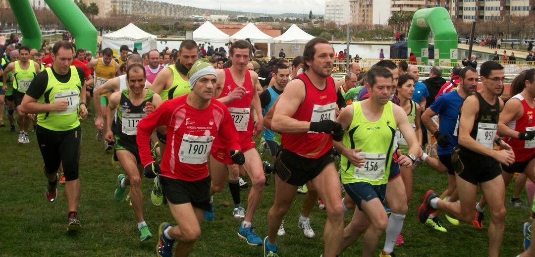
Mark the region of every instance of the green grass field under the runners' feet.
<instances>
[{"instance_id":1,"label":"green grass field under the runners' feet","mask_svg":"<svg viewBox=\"0 0 535 257\"><path fill-rule=\"evenodd\" d=\"M35 134L30 134L30 144L17 144L16 133L9 127L0 128L0 144L3 145L0 186L0 255L2 256L152 256L155 255L156 238L139 242L134 213L126 201L118 203L113 198L116 178L120 170L110 163L111 152L104 152L102 142L96 142L92 118L83 123L80 179L82 195L79 215L82 230L75 234L66 232L67 207L64 186L59 186L59 197L48 203L44 192L47 185L42 174L42 158L37 148ZM6 121L7 122L7 121ZM264 159L267 156L263 156ZM441 216L448 229L441 233L419 223L417 207L426 190L438 192L446 189L446 175L438 174L427 166L416 168L414 197L403 228L405 246L395 248L397 256L486 256L487 230L490 220L488 208L484 230L476 230L471 224L454 227ZM249 181L246 178L246 181ZM174 223L169 208L155 207L150 203L151 181L143 180L145 219L157 237L161 222ZM266 236L266 216L273 203L274 186L266 186L262 203L255 215L254 224L261 237ZM246 206L247 190L242 190L242 205ZM512 188L508 190L509 199ZM323 251L323 227L325 211L317 206L311 214L315 239L307 239L297 228L303 206L303 195L297 195L290 212L285 217L286 236L278 239L281 256L319 256ZM525 193L522 196L526 203ZM508 200L507 200L508 201ZM262 256L262 246L248 246L236 233L240 221L233 219L230 192L225 189L216 194L216 218L202 224L202 235L191 256ZM522 252L522 223L529 221L528 208L507 206L506 231L501 248L502 256L516 256ZM346 217L346 224L350 216ZM380 247L383 242L380 243ZM357 256L362 251L362 240L348 248L341 256ZM377 256L379 251L376 252Z\"/></svg>"}]
</instances>

